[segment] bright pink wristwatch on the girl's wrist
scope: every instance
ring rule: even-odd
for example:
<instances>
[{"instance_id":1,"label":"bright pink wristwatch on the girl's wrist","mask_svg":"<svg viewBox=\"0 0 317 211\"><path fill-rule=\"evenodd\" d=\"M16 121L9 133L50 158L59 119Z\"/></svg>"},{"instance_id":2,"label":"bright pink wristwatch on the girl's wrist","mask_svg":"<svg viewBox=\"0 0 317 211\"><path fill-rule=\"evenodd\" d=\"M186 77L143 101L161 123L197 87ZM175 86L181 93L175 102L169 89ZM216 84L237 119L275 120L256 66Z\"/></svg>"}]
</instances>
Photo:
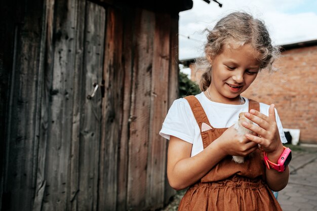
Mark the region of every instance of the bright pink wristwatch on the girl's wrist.
<instances>
[{"instance_id":1,"label":"bright pink wristwatch on the girl's wrist","mask_svg":"<svg viewBox=\"0 0 317 211\"><path fill-rule=\"evenodd\" d=\"M284 172L286 170L286 167L288 166L288 164L290 163L292 159L292 150L288 147L285 147L285 146L283 147L284 147L284 151L278 160L278 164L271 162L267 157L267 153L263 152L264 162L268 169L270 169L271 167L278 172Z\"/></svg>"}]
</instances>

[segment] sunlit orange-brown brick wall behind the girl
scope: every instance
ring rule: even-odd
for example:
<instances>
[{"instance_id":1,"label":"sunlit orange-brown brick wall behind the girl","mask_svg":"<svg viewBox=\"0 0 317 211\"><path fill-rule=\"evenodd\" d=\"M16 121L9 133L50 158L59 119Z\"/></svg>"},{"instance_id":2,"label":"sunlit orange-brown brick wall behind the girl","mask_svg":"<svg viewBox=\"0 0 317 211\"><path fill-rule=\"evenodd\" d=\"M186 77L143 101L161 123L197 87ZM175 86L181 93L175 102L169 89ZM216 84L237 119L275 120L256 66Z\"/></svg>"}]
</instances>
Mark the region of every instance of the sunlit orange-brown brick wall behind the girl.
<instances>
[{"instance_id":1,"label":"sunlit orange-brown brick wall behind the girl","mask_svg":"<svg viewBox=\"0 0 317 211\"><path fill-rule=\"evenodd\" d=\"M300 129L300 143L317 144L316 62L317 46L287 50L275 63L280 68L278 72L268 74L263 70L242 94L266 104L274 103L283 127Z\"/></svg>"}]
</instances>

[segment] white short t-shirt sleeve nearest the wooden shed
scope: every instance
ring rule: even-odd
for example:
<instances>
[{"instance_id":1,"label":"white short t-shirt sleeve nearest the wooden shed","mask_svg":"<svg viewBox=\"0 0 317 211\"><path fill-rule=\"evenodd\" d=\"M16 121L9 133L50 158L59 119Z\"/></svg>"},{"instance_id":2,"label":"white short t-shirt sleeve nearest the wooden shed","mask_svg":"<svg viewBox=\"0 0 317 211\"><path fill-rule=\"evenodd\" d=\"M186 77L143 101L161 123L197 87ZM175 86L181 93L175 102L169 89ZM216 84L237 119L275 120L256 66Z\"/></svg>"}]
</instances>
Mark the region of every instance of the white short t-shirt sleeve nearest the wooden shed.
<instances>
[{"instance_id":1,"label":"white short t-shirt sleeve nearest the wooden shed","mask_svg":"<svg viewBox=\"0 0 317 211\"><path fill-rule=\"evenodd\" d=\"M187 100L175 100L163 122L160 135L168 140L170 136L175 136L192 144L195 136L193 118Z\"/></svg>"}]
</instances>

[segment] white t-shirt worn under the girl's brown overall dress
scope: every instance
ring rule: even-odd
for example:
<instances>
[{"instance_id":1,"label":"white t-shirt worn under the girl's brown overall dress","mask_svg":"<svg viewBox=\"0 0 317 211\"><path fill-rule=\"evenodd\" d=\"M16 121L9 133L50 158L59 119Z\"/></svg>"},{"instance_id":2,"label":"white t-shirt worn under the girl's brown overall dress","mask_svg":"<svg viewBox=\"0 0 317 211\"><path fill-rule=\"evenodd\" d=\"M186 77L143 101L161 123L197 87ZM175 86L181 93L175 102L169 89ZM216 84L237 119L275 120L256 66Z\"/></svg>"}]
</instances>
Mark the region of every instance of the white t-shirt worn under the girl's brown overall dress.
<instances>
[{"instance_id":1,"label":"white t-shirt worn under the girl's brown overall dress","mask_svg":"<svg viewBox=\"0 0 317 211\"><path fill-rule=\"evenodd\" d=\"M212 102L203 92L195 95L195 97L202 104L213 128L229 128L239 119L240 112L249 111L249 100L247 98L244 98L246 102L242 105L231 105ZM268 108L269 105L260 103L260 112L267 116ZM282 143L287 143L282 123L276 109L275 118L281 141ZM175 136L191 143L191 156L200 153L204 149L199 125L196 122L188 101L184 98L177 99L173 102L163 122L160 135L166 139L170 139L170 136Z\"/></svg>"}]
</instances>

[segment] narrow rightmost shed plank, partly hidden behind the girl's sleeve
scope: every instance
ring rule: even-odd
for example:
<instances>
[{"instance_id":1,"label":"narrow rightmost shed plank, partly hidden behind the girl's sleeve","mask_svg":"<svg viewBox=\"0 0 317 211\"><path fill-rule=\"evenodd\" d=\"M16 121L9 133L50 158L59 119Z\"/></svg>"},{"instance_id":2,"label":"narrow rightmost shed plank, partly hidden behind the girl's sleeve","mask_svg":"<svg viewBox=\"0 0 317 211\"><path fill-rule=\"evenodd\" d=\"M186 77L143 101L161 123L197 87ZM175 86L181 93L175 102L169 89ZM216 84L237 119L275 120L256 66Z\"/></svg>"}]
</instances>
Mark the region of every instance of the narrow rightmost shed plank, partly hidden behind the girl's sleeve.
<instances>
[{"instance_id":1,"label":"narrow rightmost shed plank, partly hidden behind the girl's sleeve","mask_svg":"<svg viewBox=\"0 0 317 211\"><path fill-rule=\"evenodd\" d=\"M169 93L168 93L168 108L172 105L175 99L178 98L178 74L179 74L179 59L178 59L178 15L171 18L171 34L170 34L170 68L169 68ZM167 113L166 113L167 114ZM166 140L166 156L168 149L168 141ZM167 158L166 158L167 160ZM166 172L166 171L165 171ZM167 204L171 197L176 194L176 191L171 188L167 174L165 174L165 192L164 204Z\"/></svg>"}]
</instances>

